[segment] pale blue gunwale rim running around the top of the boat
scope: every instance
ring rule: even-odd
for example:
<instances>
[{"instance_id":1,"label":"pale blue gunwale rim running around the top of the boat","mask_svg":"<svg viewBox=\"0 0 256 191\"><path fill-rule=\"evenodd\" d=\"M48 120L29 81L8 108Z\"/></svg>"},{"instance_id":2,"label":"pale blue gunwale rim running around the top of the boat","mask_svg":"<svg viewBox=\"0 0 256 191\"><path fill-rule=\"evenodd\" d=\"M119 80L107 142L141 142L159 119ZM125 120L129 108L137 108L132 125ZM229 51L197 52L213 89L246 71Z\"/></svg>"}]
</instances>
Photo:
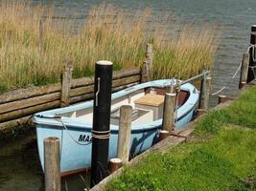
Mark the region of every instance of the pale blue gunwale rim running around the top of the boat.
<instances>
[{"instance_id":1,"label":"pale blue gunwale rim running around the top of the boat","mask_svg":"<svg viewBox=\"0 0 256 191\"><path fill-rule=\"evenodd\" d=\"M142 90L142 89L145 89L148 87L166 87L166 86L170 85L171 83L172 83L171 79L160 79L160 80L146 82L143 84L138 84L138 85L129 87L128 89L125 89L125 90L122 90L122 91L112 94L111 99L114 100L114 99L122 97L122 96L127 96L129 94L132 94L136 91L139 91L139 90ZM190 83L186 83L181 86L181 90L189 92L190 96L187 98L187 100L184 102L184 104L180 108L178 108L177 120L180 120L181 118L186 117L190 112L192 112L193 110L196 109L196 107L198 105L198 91L196 93L194 93L193 91L195 89L196 89L196 87ZM197 96L196 97L197 101L196 102L194 101L193 105L192 105L192 103L189 102L189 100L192 99L192 96ZM73 105L73 106L68 106L65 108L58 108L58 109L54 109L54 110L37 113L33 117L33 122L35 124L50 125L53 127L57 127L57 126L62 127L61 129L64 128L63 127L63 123L64 123L65 126L68 127L68 129L79 129L79 130L83 129L83 131L89 130L89 132L91 132L92 122L87 122L87 121L81 120L79 118L61 117L61 120L60 120L59 117L58 118L53 117L53 114L59 115L59 114L78 111L78 110L89 108L89 107L93 107L93 100L86 101L84 103L80 103L80 104ZM178 113L180 113L181 109L183 109L183 111L184 111L184 108L185 108L185 112L183 112L182 115L178 115ZM132 125L131 131L132 132L149 131L149 130L152 130L155 128L159 128L159 126L161 126L161 123L162 123L162 118L154 120L154 121L146 123L146 124L143 124L143 125L142 124ZM45 128L48 128L48 127L45 127ZM110 124L110 131L118 132L118 125Z\"/></svg>"}]
</instances>

